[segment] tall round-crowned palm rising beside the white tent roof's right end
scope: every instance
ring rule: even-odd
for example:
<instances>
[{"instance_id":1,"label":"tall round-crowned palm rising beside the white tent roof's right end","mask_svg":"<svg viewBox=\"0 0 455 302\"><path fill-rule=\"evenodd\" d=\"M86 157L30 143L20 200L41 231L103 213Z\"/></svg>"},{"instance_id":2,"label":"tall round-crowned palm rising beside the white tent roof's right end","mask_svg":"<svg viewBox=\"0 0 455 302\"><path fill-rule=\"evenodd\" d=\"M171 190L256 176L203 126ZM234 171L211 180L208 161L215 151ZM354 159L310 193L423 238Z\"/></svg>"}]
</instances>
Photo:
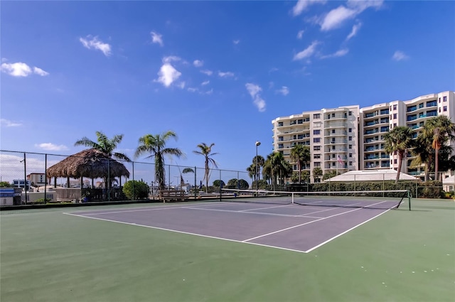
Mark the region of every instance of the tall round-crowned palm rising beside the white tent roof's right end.
<instances>
[{"instance_id":1,"label":"tall round-crowned palm rising beside the white tent roof's right end","mask_svg":"<svg viewBox=\"0 0 455 302\"><path fill-rule=\"evenodd\" d=\"M400 179L402 161L405 156L407 149L414 146L414 141L412 139L412 131L407 126L396 126L394 129L389 131L384 136L385 141L385 151L387 153L395 153L398 155L398 168L397 168L397 178L395 178L395 183L398 183Z\"/></svg>"}]
</instances>

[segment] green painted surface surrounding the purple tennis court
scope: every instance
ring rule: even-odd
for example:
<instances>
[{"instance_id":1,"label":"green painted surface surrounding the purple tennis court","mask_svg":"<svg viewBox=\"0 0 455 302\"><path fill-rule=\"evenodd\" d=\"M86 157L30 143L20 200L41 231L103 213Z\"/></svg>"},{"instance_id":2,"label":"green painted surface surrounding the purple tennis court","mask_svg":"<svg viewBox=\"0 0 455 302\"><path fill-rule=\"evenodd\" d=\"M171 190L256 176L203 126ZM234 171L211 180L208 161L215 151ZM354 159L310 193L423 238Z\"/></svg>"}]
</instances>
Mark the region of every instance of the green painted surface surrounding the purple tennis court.
<instances>
[{"instance_id":1,"label":"green painted surface surrounding the purple tennis court","mask_svg":"<svg viewBox=\"0 0 455 302\"><path fill-rule=\"evenodd\" d=\"M144 204L77 210L125 207ZM0 212L0 301L454 300L451 201L412 200L308 254L68 211Z\"/></svg>"}]
</instances>

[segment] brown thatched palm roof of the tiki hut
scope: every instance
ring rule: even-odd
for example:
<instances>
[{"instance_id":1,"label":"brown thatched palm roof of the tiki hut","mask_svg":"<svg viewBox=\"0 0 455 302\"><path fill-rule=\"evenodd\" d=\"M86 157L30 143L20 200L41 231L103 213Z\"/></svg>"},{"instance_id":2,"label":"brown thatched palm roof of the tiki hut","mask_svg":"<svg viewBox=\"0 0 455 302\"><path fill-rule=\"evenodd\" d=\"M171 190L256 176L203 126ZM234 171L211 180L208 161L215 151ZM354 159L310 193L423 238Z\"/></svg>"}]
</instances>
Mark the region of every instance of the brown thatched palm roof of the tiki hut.
<instances>
[{"instance_id":1,"label":"brown thatched palm roof of the tiki hut","mask_svg":"<svg viewBox=\"0 0 455 302\"><path fill-rule=\"evenodd\" d=\"M56 163L47 170L48 177L70 178L111 178L119 176L129 177L129 171L122 163L109 158L107 154L96 149L80 151L68 156L60 163Z\"/></svg>"}]
</instances>

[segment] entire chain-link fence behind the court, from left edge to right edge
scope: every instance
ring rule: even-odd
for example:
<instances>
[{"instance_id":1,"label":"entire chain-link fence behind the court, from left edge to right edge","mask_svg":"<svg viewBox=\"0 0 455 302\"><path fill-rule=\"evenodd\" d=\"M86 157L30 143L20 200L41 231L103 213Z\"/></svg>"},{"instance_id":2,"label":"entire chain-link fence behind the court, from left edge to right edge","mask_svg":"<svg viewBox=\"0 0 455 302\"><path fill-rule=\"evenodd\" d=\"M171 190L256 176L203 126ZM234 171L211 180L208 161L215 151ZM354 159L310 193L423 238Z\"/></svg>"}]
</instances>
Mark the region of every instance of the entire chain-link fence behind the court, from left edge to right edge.
<instances>
[{"instance_id":1,"label":"entire chain-link fence behind the court, from left edge to right edge","mask_svg":"<svg viewBox=\"0 0 455 302\"><path fill-rule=\"evenodd\" d=\"M80 153L77 153L80 154ZM9 185L16 188L1 191L0 205L21 205L46 202L91 202L127 200L124 185L129 180L145 183L149 192L146 198L159 199L159 182L156 178L154 163L141 161L119 161L104 158L90 158L90 156L63 156L50 153L32 153L19 151L0 151L0 181L2 186ZM58 166L58 169L55 168ZM84 171L83 178L63 177L72 175L74 171ZM191 198L214 196L220 193L220 188L262 189L262 190L312 190L312 186L324 184L324 190L342 190L349 183L353 190L393 190L396 186L387 178L384 171L377 171L373 178L354 175L352 179L335 182L322 175L313 176L302 172L301 183L298 178L271 177L263 175L258 169L257 177L245 171L231 171L210 168L206 174L205 168L196 166L164 165L164 189L183 190ZM49 177L51 174L52 177ZM80 175L80 174L79 174ZM256 179L259 180L256 180ZM427 197L429 195L453 196L455 176L440 174L442 182L424 183L419 178L403 181L406 188L411 190L412 196ZM369 183L369 185L366 185ZM374 184L372 184L374 183ZM137 183L136 183L137 184ZM372 187L373 185L373 187ZM18 190L21 189L21 190ZM134 191L134 182L133 188ZM137 188L139 190L139 188ZM133 195L135 196L135 195ZM433 197L434 197L433 196ZM135 199L135 198L134 198Z\"/></svg>"}]
</instances>

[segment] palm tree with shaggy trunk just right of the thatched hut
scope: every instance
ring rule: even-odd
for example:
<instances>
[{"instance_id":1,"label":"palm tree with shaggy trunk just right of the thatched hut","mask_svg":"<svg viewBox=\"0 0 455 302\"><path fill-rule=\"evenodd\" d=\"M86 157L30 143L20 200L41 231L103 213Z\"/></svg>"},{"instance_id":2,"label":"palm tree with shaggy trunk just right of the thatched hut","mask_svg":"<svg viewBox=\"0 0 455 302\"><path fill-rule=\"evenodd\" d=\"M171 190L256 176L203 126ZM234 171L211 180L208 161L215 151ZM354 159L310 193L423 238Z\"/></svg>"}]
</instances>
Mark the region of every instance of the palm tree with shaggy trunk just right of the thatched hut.
<instances>
[{"instance_id":1,"label":"palm tree with shaggy trunk just right of the thatched hut","mask_svg":"<svg viewBox=\"0 0 455 302\"><path fill-rule=\"evenodd\" d=\"M146 158L155 158L155 181L158 182L159 190L164 190L165 181L164 181L164 156L165 155L174 155L180 157L183 155L183 152L178 148L166 148L166 142L168 139L177 138L177 134L173 131L163 132L162 134L146 134L139 138L139 146L134 153L135 157L141 156L144 153L151 153L150 156Z\"/></svg>"}]
</instances>

